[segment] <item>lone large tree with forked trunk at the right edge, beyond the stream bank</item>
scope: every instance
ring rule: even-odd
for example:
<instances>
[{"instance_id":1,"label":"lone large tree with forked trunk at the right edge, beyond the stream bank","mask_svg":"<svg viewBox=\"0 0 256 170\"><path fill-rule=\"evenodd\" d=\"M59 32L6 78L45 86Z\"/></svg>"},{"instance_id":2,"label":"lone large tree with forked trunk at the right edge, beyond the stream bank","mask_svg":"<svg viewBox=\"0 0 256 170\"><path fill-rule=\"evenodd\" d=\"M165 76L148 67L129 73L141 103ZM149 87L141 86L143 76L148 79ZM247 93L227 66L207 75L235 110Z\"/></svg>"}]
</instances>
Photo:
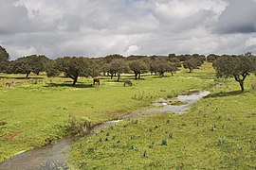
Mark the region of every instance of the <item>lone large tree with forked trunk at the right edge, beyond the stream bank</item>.
<instances>
[{"instance_id":1,"label":"lone large tree with forked trunk at the right edge, beyond the stream bank","mask_svg":"<svg viewBox=\"0 0 256 170\"><path fill-rule=\"evenodd\" d=\"M246 77L255 72L256 61L248 56L223 56L213 64L217 77L234 77L239 82L241 91L244 92L244 81Z\"/></svg>"}]
</instances>

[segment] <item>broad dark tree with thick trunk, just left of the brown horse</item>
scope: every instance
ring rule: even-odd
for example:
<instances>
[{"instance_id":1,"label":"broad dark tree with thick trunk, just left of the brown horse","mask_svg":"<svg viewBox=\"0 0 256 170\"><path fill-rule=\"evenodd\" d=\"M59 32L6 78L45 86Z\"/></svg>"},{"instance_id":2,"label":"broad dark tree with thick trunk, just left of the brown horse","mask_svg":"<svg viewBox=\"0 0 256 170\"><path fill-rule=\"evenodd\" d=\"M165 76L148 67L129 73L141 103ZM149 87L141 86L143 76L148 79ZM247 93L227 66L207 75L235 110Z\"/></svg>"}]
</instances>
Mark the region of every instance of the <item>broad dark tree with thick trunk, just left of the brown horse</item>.
<instances>
[{"instance_id":1,"label":"broad dark tree with thick trunk, just left of the brown horse","mask_svg":"<svg viewBox=\"0 0 256 170\"><path fill-rule=\"evenodd\" d=\"M56 59L54 67L60 72L64 72L65 76L73 79L74 86L79 76L95 76L94 63L86 58L64 57Z\"/></svg>"}]
</instances>

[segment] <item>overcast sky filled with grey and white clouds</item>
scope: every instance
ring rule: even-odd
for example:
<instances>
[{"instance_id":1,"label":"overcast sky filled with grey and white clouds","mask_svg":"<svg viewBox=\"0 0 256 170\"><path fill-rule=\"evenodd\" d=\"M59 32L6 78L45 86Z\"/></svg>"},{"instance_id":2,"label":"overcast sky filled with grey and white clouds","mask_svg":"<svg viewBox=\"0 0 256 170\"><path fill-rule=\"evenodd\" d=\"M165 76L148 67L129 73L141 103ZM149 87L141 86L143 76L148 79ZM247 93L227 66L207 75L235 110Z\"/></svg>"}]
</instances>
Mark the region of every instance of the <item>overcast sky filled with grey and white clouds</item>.
<instances>
[{"instance_id":1,"label":"overcast sky filled with grey and white clouds","mask_svg":"<svg viewBox=\"0 0 256 170\"><path fill-rule=\"evenodd\" d=\"M256 54L256 0L0 0L0 45L32 54Z\"/></svg>"}]
</instances>

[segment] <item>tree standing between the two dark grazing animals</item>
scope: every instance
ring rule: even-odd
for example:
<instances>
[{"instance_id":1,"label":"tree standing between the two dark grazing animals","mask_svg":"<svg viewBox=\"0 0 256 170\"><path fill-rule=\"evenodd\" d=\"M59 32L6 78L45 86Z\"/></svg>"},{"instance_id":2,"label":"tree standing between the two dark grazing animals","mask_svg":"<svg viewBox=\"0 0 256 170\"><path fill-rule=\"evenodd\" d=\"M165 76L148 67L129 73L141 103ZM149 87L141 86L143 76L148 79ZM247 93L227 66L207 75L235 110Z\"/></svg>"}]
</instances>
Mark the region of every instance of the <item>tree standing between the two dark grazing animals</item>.
<instances>
[{"instance_id":1,"label":"tree standing between the two dark grazing animals","mask_svg":"<svg viewBox=\"0 0 256 170\"><path fill-rule=\"evenodd\" d=\"M120 75L123 73L127 73L129 71L129 66L125 62L124 59L115 59L108 65L108 72L111 75L111 79L114 76L114 74L118 75L118 82L120 79Z\"/></svg>"}]
</instances>

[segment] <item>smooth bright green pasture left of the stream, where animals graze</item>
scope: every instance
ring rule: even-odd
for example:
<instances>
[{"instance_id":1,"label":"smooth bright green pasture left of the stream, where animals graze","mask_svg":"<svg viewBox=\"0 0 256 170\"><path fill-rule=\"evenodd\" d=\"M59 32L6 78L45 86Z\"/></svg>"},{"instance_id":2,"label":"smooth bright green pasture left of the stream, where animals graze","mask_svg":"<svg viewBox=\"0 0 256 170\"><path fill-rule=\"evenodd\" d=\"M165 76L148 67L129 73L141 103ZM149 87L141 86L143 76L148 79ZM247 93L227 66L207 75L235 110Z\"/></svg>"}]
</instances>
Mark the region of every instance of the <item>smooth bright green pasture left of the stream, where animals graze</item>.
<instances>
[{"instance_id":1,"label":"smooth bright green pasture left of the stream, where animals graze","mask_svg":"<svg viewBox=\"0 0 256 170\"><path fill-rule=\"evenodd\" d=\"M185 70L175 76L142 76L133 87L123 87L117 80L103 77L101 85L92 79L79 78L72 87L64 77L0 75L0 161L22 151L47 144L68 135L64 127L70 116L100 124L143 107L167 94L186 93L192 89L209 89L214 72L205 64L192 74ZM122 76L123 79L133 78ZM6 88L6 82L14 82Z\"/></svg>"}]
</instances>

